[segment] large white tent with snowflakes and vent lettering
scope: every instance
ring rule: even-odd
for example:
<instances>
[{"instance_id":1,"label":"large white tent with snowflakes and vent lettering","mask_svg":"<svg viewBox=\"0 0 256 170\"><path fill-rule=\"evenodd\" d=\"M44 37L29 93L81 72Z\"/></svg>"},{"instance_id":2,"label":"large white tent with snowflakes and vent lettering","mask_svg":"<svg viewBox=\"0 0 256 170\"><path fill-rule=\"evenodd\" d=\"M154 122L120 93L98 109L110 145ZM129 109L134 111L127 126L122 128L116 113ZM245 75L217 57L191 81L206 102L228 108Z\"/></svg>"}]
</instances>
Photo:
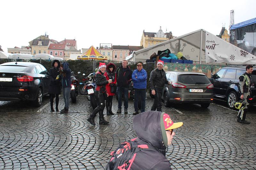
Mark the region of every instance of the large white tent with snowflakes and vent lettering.
<instances>
[{"instance_id":1,"label":"large white tent with snowflakes and vent lettering","mask_svg":"<svg viewBox=\"0 0 256 170\"><path fill-rule=\"evenodd\" d=\"M202 64L202 62L224 62L230 64L256 63L256 57L252 54L247 54L247 56L250 56L250 60L242 60L244 59L244 56L241 56L242 54L240 53L240 50L242 49L220 39L216 35L206 32L203 29L137 50L129 59L133 61L146 61L153 53L157 54L157 51L163 51L166 49L169 49L171 53L174 54L181 52L186 59L193 60L199 64ZM233 55L236 56L235 59L232 57ZM247 58L249 59L249 57Z\"/></svg>"}]
</instances>

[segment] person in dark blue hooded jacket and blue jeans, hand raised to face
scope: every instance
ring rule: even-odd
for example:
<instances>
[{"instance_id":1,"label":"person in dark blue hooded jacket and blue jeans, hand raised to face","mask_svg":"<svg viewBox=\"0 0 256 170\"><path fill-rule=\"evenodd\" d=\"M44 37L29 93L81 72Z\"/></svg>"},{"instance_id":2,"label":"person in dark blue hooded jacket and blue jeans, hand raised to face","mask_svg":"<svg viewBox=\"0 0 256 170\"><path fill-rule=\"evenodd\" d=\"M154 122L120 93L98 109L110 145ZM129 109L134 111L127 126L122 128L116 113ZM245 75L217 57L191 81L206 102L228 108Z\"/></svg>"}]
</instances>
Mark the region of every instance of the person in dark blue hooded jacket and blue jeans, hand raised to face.
<instances>
[{"instance_id":1,"label":"person in dark blue hooded jacket and blue jeans, hand raised to face","mask_svg":"<svg viewBox=\"0 0 256 170\"><path fill-rule=\"evenodd\" d=\"M71 91L71 70L68 68L68 62L64 62L60 64L60 75L62 77L62 93L63 99L65 103L64 109L60 111L60 113L68 113L69 108L69 96Z\"/></svg>"}]
</instances>

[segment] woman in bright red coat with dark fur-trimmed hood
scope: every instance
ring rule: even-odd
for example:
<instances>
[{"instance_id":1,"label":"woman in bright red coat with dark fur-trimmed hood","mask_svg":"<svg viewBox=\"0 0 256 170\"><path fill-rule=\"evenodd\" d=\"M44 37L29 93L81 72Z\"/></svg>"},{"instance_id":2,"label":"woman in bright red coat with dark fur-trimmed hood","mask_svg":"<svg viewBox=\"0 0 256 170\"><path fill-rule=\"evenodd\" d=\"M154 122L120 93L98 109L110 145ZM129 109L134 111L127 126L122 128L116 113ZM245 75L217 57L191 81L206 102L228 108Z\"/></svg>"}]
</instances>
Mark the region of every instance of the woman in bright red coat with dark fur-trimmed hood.
<instances>
[{"instance_id":1,"label":"woman in bright red coat with dark fur-trimmed hood","mask_svg":"<svg viewBox=\"0 0 256 170\"><path fill-rule=\"evenodd\" d=\"M114 115L112 112L112 100L115 93L111 93L111 86L116 86L116 65L109 63L106 67L106 72L104 75L107 80L112 80L112 83L106 85L106 90L108 92L108 98L106 100L107 115Z\"/></svg>"}]
</instances>

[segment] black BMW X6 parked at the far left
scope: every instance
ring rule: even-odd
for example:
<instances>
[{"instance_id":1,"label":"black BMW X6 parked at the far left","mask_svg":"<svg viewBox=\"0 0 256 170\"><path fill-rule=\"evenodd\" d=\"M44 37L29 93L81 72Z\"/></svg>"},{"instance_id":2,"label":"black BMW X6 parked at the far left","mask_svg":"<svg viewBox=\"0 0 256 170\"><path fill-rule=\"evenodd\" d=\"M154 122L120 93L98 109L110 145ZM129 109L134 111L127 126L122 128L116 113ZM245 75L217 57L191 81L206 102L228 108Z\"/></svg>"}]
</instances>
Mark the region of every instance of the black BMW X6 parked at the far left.
<instances>
[{"instance_id":1,"label":"black BMW X6 parked at the far left","mask_svg":"<svg viewBox=\"0 0 256 170\"><path fill-rule=\"evenodd\" d=\"M0 101L33 101L36 107L48 94L49 73L38 63L8 62L0 65Z\"/></svg>"}]
</instances>

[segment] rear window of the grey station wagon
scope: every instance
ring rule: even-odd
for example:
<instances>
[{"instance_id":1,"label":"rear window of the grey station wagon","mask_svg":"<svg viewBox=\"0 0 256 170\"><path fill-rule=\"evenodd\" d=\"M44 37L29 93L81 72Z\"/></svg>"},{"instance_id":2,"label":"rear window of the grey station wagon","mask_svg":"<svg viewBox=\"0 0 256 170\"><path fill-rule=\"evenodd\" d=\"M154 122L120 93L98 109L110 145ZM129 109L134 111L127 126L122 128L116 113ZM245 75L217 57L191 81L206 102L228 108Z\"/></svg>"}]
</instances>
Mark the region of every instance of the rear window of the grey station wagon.
<instances>
[{"instance_id":1,"label":"rear window of the grey station wagon","mask_svg":"<svg viewBox=\"0 0 256 170\"><path fill-rule=\"evenodd\" d=\"M205 75L183 74L178 75L178 81L184 84L208 84L209 79Z\"/></svg>"}]
</instances>

